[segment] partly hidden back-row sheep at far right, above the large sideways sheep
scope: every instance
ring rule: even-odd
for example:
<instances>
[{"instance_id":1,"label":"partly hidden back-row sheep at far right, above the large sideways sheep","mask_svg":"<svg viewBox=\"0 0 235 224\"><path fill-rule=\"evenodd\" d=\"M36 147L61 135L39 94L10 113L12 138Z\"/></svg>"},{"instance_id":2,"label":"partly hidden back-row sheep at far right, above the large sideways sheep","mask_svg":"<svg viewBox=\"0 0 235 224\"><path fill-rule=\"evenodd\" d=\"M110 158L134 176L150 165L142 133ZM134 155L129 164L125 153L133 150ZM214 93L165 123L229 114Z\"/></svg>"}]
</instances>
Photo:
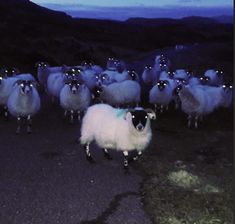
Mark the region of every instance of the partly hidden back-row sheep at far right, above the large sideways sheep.
<instances>
[{"instance_id":1,"label":"partly hidden back-row sheep at far right, above the large sideways sheep","mask_svg":"<svg viewBox=\"0 0 235 224\"><path fill-rule=\"evenodd\" d=\"M224 83L223 75L224 73L222 70L208 69L205 71L203 77L201 77L201 80L205 85L219 86Z\"/></svg>"}]
</instances>

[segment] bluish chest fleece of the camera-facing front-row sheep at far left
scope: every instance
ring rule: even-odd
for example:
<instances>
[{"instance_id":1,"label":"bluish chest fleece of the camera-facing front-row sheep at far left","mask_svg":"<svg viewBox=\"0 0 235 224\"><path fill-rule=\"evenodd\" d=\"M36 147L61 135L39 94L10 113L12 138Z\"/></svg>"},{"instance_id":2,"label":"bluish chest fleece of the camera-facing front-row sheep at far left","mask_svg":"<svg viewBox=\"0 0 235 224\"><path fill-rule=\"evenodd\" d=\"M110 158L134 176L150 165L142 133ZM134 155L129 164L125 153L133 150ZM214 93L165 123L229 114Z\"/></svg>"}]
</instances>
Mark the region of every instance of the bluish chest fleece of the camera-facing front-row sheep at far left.
<instances>
[{"instance_id":1,"label":"bluish chest fleece of the camera-facing front-row sheep at far left","mask_svg":"<svg viewBox=\"0 0 235 224\"><path fill-rule=\"evenodd\" d=\"M32 92L29 94L22 94L20 86L16 86L8 97L7 107L10 114L14 117L33 116L40 110L41 100L34 86L32 87Z\"/></svg>"}]
</instances>

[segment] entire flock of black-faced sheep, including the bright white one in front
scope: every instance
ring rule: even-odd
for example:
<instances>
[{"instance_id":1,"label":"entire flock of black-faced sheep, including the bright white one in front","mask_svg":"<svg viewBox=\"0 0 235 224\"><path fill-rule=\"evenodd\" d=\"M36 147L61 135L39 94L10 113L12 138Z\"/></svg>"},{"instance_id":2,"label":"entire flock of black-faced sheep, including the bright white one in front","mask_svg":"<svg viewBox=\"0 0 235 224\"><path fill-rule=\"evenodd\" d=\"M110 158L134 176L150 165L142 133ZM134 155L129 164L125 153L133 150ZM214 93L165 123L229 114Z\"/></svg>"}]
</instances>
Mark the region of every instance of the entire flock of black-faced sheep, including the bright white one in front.
<instances>
[{"instance_id":1,"label":"entire flock of black-faced sheep, including the bright white one in front","mask_svg":"<svg viewBox=\"0 0 235 224\"><path fill-rule=\"evenodd\" d=\"M174 102L188 115L188 126L197 128L202 116L231 106L233 96L222 71L209 69L201 77L185 69L171 71L171 62L164 55L157 55L153 66L146 66L141 75L114 58L107 60L105 69L87 62L59 67L40 62L36 78L16 69L2 69L0 74L0 105L6 117L10 113L17 118L17 133L23 119L31 132L32 117L41 108L39 85L52 101L59 101L71 122L84 115L80 142L89 161L94 161L89 144L96 141L109 159L108 149L123 151L125 168L128 152L137 150L132 158L137 159L149 144L150 120L156 112L164 112ZM154 110L139 106L146 101Z\"/></svg>"}]
</instances>

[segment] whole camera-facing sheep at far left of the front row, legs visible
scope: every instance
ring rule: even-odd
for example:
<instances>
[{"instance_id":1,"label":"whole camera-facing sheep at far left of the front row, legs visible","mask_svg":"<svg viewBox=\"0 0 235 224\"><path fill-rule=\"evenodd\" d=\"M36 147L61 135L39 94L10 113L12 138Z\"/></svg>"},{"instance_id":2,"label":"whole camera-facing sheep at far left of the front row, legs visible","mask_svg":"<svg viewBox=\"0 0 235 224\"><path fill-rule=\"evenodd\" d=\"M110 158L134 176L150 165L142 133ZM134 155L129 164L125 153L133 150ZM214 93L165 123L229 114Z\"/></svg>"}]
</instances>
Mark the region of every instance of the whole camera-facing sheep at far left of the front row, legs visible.
<instances>
[{"instance_id":1,"label":"whole camera-facing sheep at far left of the front row, legs visible","mask_svg":"<svg viewBox=\"0 0 235 224\"><path fill-rule=\"evenodd\" d=\"M18 126L16 133L20 133L21 120L27 120L27 132L31 133L32 116L41 107L41 100L34 82L29 80L17 80L17 86L8 97L7 107L10 114L17 118Z\"/></svg>"}]
</instances>

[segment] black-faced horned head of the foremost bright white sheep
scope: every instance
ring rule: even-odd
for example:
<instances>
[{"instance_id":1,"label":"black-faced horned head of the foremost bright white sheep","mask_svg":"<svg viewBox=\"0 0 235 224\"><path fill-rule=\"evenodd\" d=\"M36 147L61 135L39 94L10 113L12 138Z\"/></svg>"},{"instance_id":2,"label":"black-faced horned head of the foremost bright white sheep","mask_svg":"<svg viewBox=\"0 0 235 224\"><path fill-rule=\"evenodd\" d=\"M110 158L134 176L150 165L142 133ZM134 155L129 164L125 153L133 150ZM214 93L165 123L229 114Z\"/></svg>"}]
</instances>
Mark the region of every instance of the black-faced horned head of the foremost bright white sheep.
<instances>
[{"instance_id":1,"label":"black-faced horned head of the foremost bright white sheep","mask_svg":"<svg viewBox=\"0 0 235 224\"><path fill-rule=\"evenodd\" d=\"M156 119L156 114L152 109L135 108L127 111L125 119L130 122L133 127L142 132L149 124L149 120Z\"/></svg>"}]
</instances>

